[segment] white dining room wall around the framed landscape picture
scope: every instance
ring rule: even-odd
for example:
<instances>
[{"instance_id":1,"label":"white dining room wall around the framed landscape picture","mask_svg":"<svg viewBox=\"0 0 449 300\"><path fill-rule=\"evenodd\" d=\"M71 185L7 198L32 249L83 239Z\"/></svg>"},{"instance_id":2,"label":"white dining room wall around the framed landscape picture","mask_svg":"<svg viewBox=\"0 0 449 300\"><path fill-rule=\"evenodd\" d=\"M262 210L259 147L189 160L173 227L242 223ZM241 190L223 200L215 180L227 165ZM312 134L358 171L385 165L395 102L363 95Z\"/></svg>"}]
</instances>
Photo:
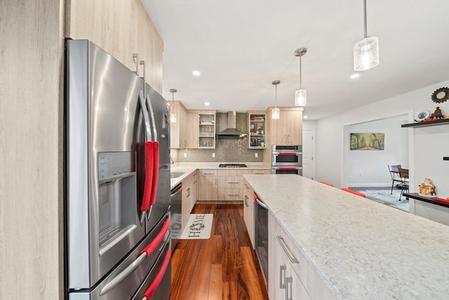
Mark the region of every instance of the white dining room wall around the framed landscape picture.
<instances>
[{"instance_id":1,"label":"white dining room wall around the framed landscape picture","mask_svg":"<svg viewBox=\"0 0 449 300\"><path fill-rule=\"evenodd\" d=\"M408 115L344 126L344 166L350 187L391 186L388 164L408 168ZM350 133L384 133L384 150L350 150Z\"/></svg>"}]
</instances>

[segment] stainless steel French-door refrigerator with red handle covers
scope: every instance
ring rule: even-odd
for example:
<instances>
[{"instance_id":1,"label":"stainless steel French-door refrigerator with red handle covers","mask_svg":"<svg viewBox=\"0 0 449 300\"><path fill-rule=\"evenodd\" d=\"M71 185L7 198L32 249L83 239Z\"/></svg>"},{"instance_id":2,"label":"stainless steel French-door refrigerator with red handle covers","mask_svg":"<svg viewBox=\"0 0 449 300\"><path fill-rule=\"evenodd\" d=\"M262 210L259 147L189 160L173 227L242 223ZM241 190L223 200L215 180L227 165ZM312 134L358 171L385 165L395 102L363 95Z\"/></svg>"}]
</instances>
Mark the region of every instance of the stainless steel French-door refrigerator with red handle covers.
<instances>
[{"instance_id":1,"label":"stainless steel French-door refrigerator with red handle covers","mask_svg":"<svg viewBox=\"0 0 449 300\"><path fill-rule=\"evenodd\" d=\"M166 100L91 41L65 69L66 299L168 299Z\"/></svg>"}]
</instances>

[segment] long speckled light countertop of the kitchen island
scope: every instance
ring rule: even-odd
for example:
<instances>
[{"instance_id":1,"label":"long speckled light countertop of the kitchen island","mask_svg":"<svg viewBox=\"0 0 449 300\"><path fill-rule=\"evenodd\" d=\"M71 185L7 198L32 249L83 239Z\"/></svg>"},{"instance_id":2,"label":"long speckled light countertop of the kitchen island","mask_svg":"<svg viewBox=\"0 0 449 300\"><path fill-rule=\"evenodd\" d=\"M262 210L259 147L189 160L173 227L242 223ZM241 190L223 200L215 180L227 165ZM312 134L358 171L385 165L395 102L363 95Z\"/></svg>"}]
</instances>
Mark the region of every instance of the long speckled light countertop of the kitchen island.
<instances>
[{"instance_id":1,"label":"long speckled light countertop of the kitchen island","mask_svg":"<svg viewBox=\"0 0 449 300\"><path fill-rule=\"evenodd\" d=\"M295 175L244 175L337 299L449 299L449 226Z\"/></svg>"}]
</instances>

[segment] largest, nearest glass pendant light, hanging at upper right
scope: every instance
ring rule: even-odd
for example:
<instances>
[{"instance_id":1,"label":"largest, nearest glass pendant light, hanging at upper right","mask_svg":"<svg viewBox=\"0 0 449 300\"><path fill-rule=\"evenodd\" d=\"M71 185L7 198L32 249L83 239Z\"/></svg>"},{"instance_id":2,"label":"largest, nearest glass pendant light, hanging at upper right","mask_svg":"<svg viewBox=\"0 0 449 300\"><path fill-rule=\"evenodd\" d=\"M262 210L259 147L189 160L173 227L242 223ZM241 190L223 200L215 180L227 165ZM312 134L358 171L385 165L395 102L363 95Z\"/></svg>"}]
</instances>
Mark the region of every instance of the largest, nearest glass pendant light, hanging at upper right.
<instances>
[{"instance_id":1,"label":"largest, nearest glass pendant light, hanging at upper right","mask_svg":"<svg viewBox=\"0 0 449 300\"><path fill-rule=\"evenodd\" d=\"M379 65L379 39L366 36L366 0L363 0L365 36L354 45L354 71L365 71Z\"/></svg>"}]
</instances>

